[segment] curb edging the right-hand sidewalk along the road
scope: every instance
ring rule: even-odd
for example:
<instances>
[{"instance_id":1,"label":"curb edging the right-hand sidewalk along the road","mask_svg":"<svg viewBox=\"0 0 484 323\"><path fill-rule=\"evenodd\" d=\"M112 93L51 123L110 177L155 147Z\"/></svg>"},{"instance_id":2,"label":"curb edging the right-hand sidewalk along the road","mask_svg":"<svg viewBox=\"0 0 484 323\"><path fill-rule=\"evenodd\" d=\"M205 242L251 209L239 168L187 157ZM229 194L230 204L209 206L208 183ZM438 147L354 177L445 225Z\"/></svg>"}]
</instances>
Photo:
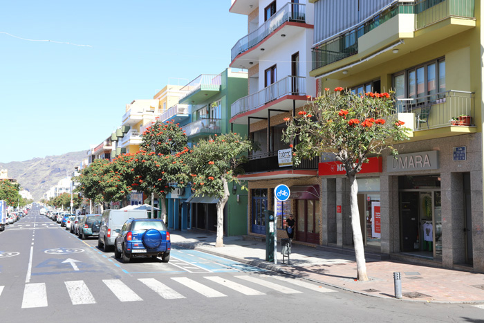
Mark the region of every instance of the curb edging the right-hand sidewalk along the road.
<instances>
[{"instance_id":1,"label":"curb edging the right-hand sidewalk along the road","mask_svg":"<svg viewBox=\"0 0 484 323\"><path fill-rule=\"evenodd\" d=\"M381 299L392 299L394 301L402 301L402 302L424 303L424 304L428 304L428 303L435 303L435 304L480 304L480 303L484 303L484 300L482 300L482 301L461 301L461 302L459 302L459 301L448 301L448 302L446 302L446 301L429 301L429 300L424 300L424 299L418 300L418 299L404 299L404 298L398 299L398 298L392 298L392 297L384 297L384 296L380 296L380 295L364 293L364 292L361 292L360 290L353 290L353 289L349 289L349 288L346 288L346 287L337 286L337 285L334 285L334 284L323 282L323 281L318 280L318 279L301 277L301 275L296 275L296 274L291 273L287 270L284 270L283 268L280 268L277 265L269 264L266 261L247 260L247 259L243 259L243 258L231 256L231 255L225 255L221 252L216 252L216 251L204 248L205 246L207 246L207 243L198 243L198 242L183 243L183 242L179 242L179 243L172 243L172 244L174 246L179 246L179 247L182 247L182 248L187 248L187 249L205 252L205 253L208 253L210 255L222 257L222 258L225 258L225 259L230 259L230 260L233 260L233 261L239 261L242 264L248 264L248 265L251 265L251 266L254 266L254 267L267 269L267 270L273 271L274 273L281 273L283 275L297 277L297 278L300 278L300 279L307 280L309 282L315 282L317 284L322 284L324 286L330 286L330 287L337 288L337 289L340 289L340 290L345 290L345 291L350 292L350 293L355 293L355 294L360 294L360 295L365 295L365 296L370 296L370 297L377 297L377 298L381 298Z\"/></svg>"}]
</instances>

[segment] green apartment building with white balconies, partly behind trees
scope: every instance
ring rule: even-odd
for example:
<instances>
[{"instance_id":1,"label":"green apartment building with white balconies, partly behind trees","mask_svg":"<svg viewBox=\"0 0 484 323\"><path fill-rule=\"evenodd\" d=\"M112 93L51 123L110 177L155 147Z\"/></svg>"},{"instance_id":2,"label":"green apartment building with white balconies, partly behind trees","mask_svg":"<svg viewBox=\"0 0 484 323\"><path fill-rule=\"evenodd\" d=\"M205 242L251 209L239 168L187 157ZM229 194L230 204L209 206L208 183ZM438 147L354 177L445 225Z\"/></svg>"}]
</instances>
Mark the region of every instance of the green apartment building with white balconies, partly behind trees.
<instances>
[{"instance_id":1,"label":"green apartment building with white balconies, partly behind trees","mask_svg":"<svg viewBox=\"0 0 484 323\"><path fill-rule=\"evenodd\" d=\"M236 132L245 135L246 127L230 124L230 107L247 95L248 73L226 68L220 74L202 74L183 86L184 95L162 121L175 120L187 133L189 145L209 136ZM189 107L185 111L185 106ZM170 109L170 110L171 110ZM231 186L225 205L224 232L227 236L247 233L247 196L239 185ZM191 196L189 187L167 196L168 226L176 230L198 228L216 230L216 203L211 196Z\"/></svg>"}]
</instances>

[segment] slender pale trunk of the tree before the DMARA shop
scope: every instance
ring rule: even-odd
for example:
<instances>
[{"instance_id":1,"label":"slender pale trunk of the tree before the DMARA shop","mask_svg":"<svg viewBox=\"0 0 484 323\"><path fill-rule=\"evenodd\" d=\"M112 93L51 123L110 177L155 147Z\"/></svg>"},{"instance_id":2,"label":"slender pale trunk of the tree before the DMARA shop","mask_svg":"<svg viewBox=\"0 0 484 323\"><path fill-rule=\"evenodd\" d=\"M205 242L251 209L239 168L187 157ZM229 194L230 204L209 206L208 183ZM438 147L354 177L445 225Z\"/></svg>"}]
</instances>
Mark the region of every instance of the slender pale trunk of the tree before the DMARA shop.
<instances>
[{"instance_id":1,"label":"slender pale trunk of the tree before the DMARA shop","mask_svg":"<svg viewBox=\"0 0 484 323\"><path fill-rule=\"evenodd\" d=\"M362 228L360 225L360 212L358 210L358 184L355 175L348 175L350 180L351 228L353 229L353 244L355 245L356 279L366 282L366 262L364 259L364 246Z\"/></svg>"}]
</instances>

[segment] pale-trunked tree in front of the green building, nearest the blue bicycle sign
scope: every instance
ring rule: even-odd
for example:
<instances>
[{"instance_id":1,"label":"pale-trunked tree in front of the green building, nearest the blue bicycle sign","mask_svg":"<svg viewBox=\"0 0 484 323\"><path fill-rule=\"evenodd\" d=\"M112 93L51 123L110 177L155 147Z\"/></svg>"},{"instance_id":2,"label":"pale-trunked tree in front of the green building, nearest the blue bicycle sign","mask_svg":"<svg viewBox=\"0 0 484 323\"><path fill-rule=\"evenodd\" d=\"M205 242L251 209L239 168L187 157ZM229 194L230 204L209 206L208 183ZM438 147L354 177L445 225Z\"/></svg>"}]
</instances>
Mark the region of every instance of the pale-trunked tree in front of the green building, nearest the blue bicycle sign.
<instances>
[{"instance_id":1,"label":"pale-trunked tree in front of the green building, nearest the blue bicycle sign","mask_svg":"<svg viewBox=\"0 0 484 323\"><path fill-rule=\"evenodd\" d=\"M192 154L189 154L194 196L205 195L218 198L216 247L223 247L223 207L230 196L228 182L234 181L241 184L236 178L239 166L246 160L245 156L241 155L250 150L252 150L250 140L242 140L236 133L227 133L200 140Z\"/></svg>"}]
</instances>

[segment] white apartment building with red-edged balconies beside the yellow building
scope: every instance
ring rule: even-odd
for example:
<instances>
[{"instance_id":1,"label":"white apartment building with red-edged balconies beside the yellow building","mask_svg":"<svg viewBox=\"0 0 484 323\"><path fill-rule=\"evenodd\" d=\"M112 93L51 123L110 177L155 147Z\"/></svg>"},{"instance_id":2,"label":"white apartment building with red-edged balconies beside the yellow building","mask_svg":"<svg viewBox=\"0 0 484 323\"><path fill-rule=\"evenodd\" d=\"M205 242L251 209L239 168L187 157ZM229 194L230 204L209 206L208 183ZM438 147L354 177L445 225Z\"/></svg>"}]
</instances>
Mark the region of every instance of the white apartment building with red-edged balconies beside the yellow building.
<instances>
[{"instance_id":1,"label":"white apartment building with red-edged balconies beside the yellow building","mask_svg":"<svg viewBox=\"0 0 484 323\"><path fill-rule=\"evenodd\" d=\"M247 127L259 142L243 165L248 182L248 228L265 235L263 211L275 210L277 237L286 238L284 223L294 214L300 243L319 244L321 197L318 158L292 165L290 142L282 141L284 118L292 118L317 95L311 71L314 5L308 1L232 1L230 12L248 16L248 31L232 48L230 66L248 69L249 93L232 104L230 122ZM290 199L274 204L279 184L292 190Z\"/></svg>"}]
</instances>

